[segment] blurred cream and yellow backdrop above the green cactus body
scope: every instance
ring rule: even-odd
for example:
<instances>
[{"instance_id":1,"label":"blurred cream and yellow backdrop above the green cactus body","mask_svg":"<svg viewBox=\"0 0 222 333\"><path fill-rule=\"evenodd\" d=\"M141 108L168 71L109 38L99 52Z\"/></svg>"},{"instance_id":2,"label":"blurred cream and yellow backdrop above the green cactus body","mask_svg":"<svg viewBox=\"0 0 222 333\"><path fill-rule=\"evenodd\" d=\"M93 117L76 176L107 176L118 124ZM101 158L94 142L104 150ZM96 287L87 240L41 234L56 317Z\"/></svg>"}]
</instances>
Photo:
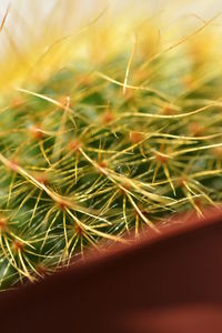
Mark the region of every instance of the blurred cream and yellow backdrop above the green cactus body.
<instances>
[{"instance_id":1,"label":"blurred cream and yellow backdrop above the green cactus body","mask_svg":"<svg viewBox=\"0 0 222 333\"><path fill-rule=\"evenodd\" d=\"M44 80L50 71L78 57L97 63L119 48L130 50L135 34L148 57L159 48L180 47L191 36L188 41L198 61L209 54L220 58L221 9L221 1L204 0L3 0L0 90Z\"/></svg>"}]
</instances>

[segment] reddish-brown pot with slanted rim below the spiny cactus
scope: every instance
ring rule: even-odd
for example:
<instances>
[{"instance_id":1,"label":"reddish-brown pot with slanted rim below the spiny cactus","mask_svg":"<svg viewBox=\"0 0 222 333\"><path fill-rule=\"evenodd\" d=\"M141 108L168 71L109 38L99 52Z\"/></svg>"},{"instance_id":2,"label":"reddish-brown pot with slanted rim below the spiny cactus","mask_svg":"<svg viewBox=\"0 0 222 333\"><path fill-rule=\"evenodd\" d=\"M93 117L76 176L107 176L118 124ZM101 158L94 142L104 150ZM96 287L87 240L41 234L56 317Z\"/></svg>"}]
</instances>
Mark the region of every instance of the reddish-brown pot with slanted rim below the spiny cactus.
<instances>
[{"instance_id":1,"label":"reddish-brown pot with slanted rim below the spiny cactus","mask_svg":"<svg viewBox=\"0 0 222 333\"><path fill-rule=\"evenodd\" d=\"M91 252L85 261L40 283L2 293L1 329L222 332L221 208L205 211L201 219L180 215L161 231L144 232L108 252Z\"/></svg>"}]
</instances>

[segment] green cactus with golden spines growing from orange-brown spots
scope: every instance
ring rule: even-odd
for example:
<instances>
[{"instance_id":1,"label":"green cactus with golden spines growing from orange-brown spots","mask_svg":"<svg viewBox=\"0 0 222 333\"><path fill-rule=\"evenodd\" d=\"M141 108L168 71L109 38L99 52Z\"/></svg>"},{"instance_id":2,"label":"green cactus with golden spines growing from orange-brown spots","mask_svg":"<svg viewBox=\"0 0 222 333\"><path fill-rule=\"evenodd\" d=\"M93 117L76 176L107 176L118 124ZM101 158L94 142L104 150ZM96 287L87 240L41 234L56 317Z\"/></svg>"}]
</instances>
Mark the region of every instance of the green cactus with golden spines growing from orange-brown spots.
<instances>
[{"instance_id":1,"label":"green cactus with golden spines growing from orange-brown spots","mask_svg":"<svg viewBox=\"0 0 222 333\"><path fill-rule=\"evenodd\" d=\"M87 56L2 94L1 289L221 201L221 63L198 32L112 49L100 27L72 46Z\"/></svg>"}]
</instances>

